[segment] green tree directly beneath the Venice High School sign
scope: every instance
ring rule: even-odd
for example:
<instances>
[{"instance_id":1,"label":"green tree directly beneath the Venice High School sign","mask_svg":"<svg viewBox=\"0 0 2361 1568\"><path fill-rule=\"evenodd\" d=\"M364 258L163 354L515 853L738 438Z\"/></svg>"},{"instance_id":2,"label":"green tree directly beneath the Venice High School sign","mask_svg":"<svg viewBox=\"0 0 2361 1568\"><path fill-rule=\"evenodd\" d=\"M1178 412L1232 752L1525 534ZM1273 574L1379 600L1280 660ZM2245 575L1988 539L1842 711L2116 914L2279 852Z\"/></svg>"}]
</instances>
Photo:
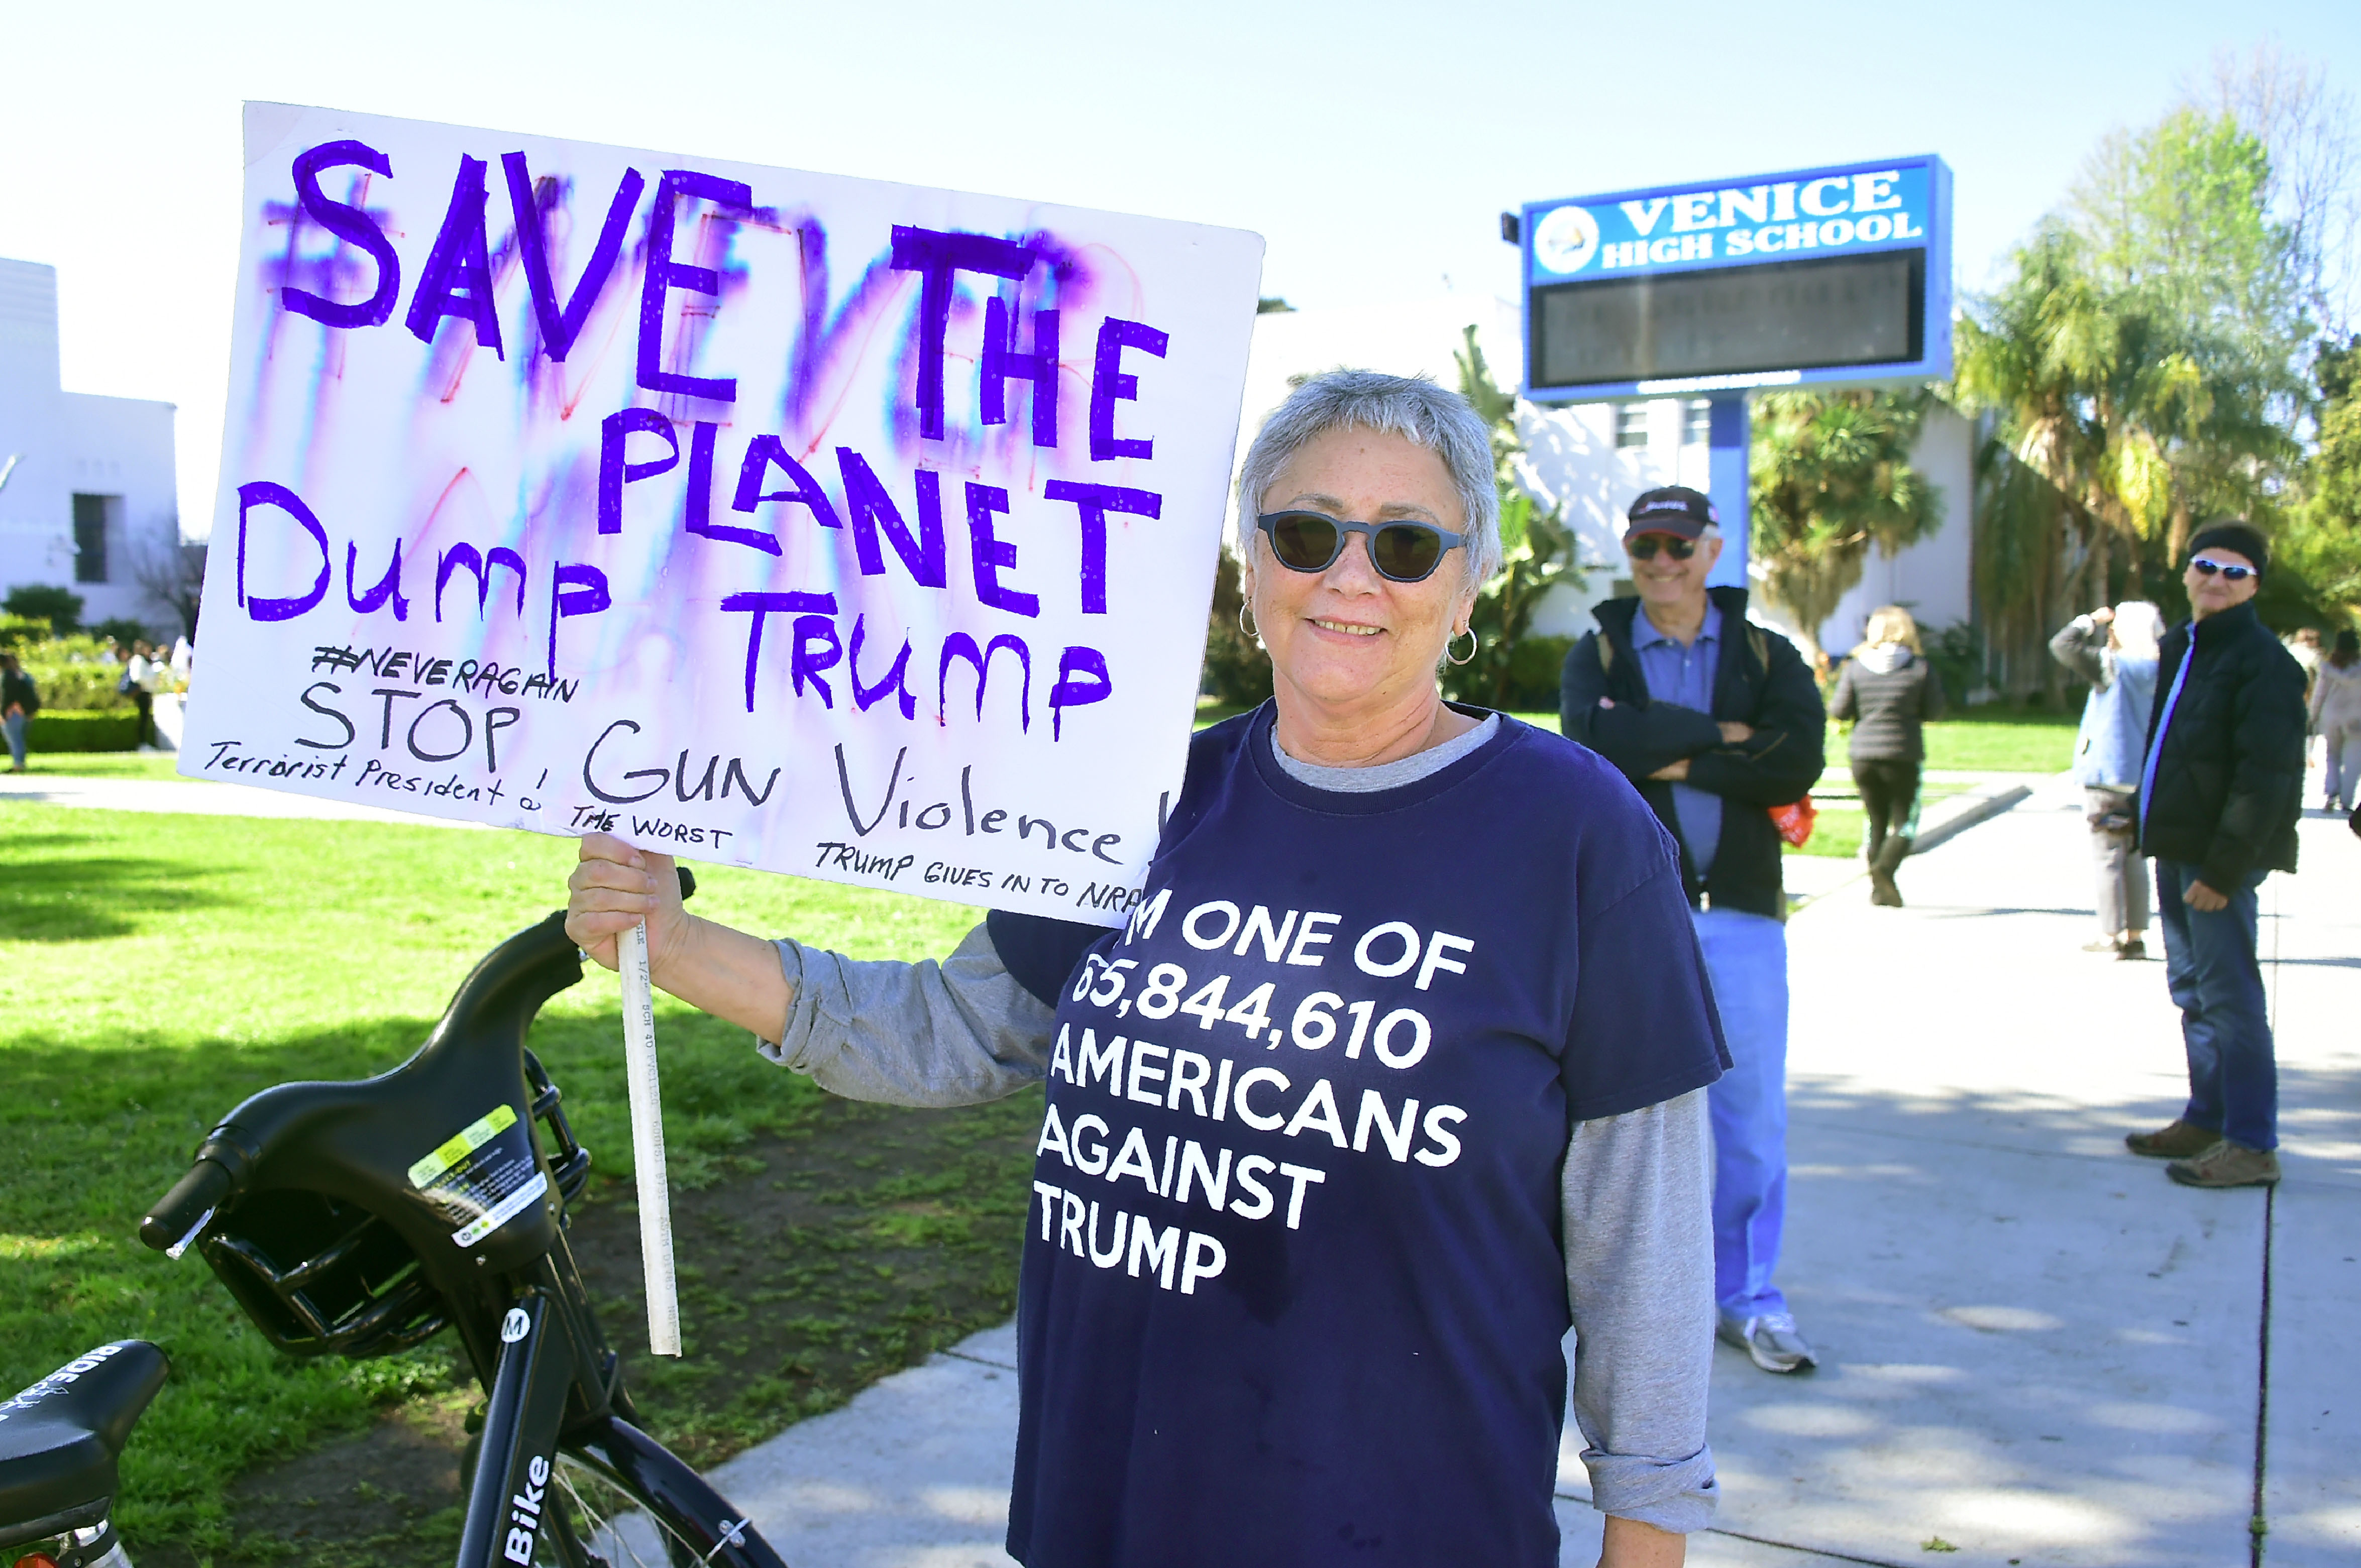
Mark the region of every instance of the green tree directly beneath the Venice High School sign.
<instances>
[{"instance_id":1,"label":"green tree directly beneath the Venice High School sign","mask_svg":"<svg viewBox=\"0 0 2361 1568\"><path fill-rule=\"evenodd\" d=\"M1804 652L1868 564L1943 524L1943 496L1910 465L1934 394L1766 392L1754 404L1752 569Z\"/></svg>"}]
</instances>

